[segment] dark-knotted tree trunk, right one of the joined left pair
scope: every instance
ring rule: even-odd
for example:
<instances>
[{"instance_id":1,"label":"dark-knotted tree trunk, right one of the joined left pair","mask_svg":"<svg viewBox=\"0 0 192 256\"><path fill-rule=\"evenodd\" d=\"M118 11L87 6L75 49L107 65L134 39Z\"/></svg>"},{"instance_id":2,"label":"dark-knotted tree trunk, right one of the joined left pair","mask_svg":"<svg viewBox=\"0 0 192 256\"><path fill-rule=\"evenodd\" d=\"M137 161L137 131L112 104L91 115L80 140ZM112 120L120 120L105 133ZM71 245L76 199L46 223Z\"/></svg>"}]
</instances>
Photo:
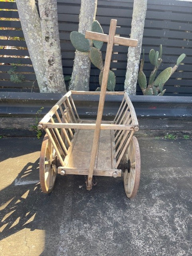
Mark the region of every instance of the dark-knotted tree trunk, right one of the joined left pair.
<instances>
[{"instance_id":1,"label":"dark-knotted tree trunk, right one of the joined left pair","mask_svg":"<svg viewBox=\"0 0 192 256\"><path fill-rule=\"evenodd\" d=\"M57 17L57 0L39 0L42 42L44 47L44 82L49 92L65 93L65 81L61 61L61 46Z\"/></svg>"}]
</instances>

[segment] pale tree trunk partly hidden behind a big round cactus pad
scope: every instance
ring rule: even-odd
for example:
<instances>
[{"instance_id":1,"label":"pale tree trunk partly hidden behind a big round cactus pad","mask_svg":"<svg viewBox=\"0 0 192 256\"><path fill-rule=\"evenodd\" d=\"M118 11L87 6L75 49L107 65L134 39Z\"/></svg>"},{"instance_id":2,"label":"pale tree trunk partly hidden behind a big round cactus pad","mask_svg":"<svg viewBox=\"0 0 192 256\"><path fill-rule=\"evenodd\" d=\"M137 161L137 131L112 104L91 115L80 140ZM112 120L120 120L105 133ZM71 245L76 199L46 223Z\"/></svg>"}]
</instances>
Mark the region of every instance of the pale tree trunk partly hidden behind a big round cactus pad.
<instances>
[{"instance_id":1,"label":"pale tree trunk partly hidden behind a big round cactus pad","mask_svg":"<svg viewBox=\"0 0 192 256\"><path fill-rule=\"evenodd\" d=\"M78 32L85 34L86 30L91 30L91 25L95 20L96 10L97 0L81 0ZM79 52L76 50L69 86L70 90L89 91L90 68L89 52Z\"/></svg>"}]
</instances>

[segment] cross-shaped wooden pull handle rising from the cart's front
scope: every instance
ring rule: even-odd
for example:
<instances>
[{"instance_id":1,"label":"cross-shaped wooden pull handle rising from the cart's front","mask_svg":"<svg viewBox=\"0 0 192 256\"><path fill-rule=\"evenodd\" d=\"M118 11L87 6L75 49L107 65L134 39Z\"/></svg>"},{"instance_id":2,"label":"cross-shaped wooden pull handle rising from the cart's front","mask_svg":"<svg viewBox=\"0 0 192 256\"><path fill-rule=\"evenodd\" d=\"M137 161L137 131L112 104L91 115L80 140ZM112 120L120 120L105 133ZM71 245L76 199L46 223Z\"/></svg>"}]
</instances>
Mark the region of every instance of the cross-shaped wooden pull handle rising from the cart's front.
<instances>
[{"instance_id":1,"label":"cross-shaped wooden pull handle rising from the cart's front","mask_svg":"<svg viewBox=\"0 0 192 256\"><path fill-rule=\"evenodd\" d=\"M129 39L129 38L121 38L119 36L115 36L117 26L117 20L111 20L110 28L109 28L109 35L96 33L96 32L85 32L85 38L94 39L98 41L107 42L107 51L105 57L105 66L103 70L103 80L101 84L101 93L99 98L99 106L97 111L97 120L95 124L95 133L93 138L93 146L91 152L91 161L89 166L89 174L87 178L87 190L91 190L92 188L92 179L93 179L93 170L95 165L95 158L97 154L97 148L99 144L99 136L100 136L100 128L101 128L101 120L103 116L103 108L105 104L105 94L107 89L107 81L109 77L109 69L111 64L111 56L113 52L113 44L122 44L126 46L137 46L137 40Z\"/></svg>"}]
</instances>

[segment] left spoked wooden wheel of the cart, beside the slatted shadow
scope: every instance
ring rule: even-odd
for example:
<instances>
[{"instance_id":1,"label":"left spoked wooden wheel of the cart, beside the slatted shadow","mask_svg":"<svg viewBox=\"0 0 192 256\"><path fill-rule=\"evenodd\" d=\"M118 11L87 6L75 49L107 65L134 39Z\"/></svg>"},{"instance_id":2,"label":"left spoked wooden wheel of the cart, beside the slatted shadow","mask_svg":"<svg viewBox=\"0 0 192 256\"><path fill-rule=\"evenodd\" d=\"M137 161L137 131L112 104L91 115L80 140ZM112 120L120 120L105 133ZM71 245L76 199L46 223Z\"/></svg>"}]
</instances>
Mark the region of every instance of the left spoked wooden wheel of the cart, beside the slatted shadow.
<instances>
[{"instance_id":1,"label":"left spoked wooden wheel of the cart, beside the slatted shadow","mask_svg":"<svg viewBox=\"0 0 192 256\"><path fill-rule=\"evenodd\" d=\"M55 150L46 134L42 142L40 153L40 184L44 193L50 193L53 190L57 175L55 163Z\"/></svg>"}]
</instances>

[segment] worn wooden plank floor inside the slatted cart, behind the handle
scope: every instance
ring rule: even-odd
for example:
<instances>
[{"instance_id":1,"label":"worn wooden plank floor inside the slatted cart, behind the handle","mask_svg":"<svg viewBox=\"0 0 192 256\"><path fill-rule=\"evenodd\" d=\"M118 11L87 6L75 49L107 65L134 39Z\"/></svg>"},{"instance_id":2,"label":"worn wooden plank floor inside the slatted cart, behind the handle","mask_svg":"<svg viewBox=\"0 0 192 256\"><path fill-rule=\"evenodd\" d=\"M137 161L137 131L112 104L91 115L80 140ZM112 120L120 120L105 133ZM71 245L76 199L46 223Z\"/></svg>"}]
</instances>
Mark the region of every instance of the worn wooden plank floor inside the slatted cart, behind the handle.
<instances>
[{"instance_id":1,"label":"worn wooden plank floor inside the slatted cart, behind the handle","mask_svg":"<svg viewBox=\"0 0 192 256\"><path fill-rule=\"evenodd\" d=\"M88 129L79 130L71 155L65 161L67 168L89 168L94 131ZM101 130L95 168L104 170L112 169L111 130Z\"/></svg>"}]
</instances>

